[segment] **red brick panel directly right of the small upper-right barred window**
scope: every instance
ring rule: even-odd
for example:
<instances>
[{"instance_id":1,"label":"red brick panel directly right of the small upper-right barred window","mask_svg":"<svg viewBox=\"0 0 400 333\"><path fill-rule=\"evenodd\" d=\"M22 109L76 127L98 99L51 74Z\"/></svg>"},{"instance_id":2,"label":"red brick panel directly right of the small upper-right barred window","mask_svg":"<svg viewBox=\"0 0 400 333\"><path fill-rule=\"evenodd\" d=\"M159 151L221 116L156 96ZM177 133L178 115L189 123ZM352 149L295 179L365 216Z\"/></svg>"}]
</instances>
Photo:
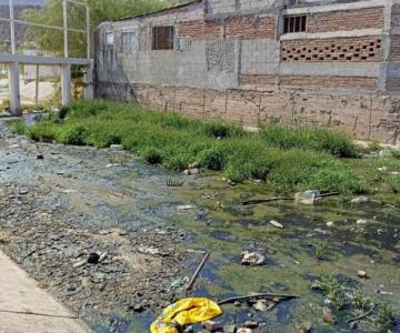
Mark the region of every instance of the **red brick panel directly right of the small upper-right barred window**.
<instances>
[{"instance_id":1,"label":"red brick panel directly right of the small upper-right barred window","mask_svg":"<svg viewBox=\"0 0 400 333\"><path fill-rule=\"evenodd\" d=\"M326 32L356 29L382 29L383 8L364 8L308 14L307 32Z\"/></svg>"}]
</instances>

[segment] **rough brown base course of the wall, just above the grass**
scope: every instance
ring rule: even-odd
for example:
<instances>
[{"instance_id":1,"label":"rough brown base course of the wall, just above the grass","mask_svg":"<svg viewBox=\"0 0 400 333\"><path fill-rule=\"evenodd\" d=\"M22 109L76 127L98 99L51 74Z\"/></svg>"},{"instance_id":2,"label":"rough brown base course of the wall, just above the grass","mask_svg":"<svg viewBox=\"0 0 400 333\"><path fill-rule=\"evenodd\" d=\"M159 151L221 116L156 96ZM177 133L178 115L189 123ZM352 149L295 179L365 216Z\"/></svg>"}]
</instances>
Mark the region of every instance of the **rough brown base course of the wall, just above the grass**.
<instances>
[{"instance_id":1,"label":"rough brown base course of the wall, just above the grass","mask_svg":"<svg viewBox=\"0 0 400 333\"><path fill-rule=\"evenodd\" d=\"M117 93L118 92L118 93ZM249 127L279 120L290 125L328 125L360 140L400 143L400 100L377 94L207 90L101 82L97 94L189 117L218 118Z\"/></svg>"}]
</instances>

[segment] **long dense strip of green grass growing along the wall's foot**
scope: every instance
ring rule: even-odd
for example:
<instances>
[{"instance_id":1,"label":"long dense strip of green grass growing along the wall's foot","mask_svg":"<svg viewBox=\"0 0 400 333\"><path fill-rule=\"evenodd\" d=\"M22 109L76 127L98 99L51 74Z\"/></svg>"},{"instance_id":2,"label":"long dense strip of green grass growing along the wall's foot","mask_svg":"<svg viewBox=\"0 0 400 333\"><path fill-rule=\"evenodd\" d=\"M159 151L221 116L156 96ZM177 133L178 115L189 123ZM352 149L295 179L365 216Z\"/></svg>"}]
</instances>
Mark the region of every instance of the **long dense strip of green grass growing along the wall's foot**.
<instances>
[{"instance_id":1,"label":"long dense strip of green grass growing along the wall's foot","mask_svg":"<svg viewBox=\"0 0 400 333\"><path fill-rule=\"evenodd\" d=\"M327 129L278 124L260 133L103 100L77 101L29 128L33 140L106 148L122 144L148 163L223 171L234 182L263 180L279 191L363 192L366 184L337 157L357 157L351 141Z\"/></svg>"}]
</instances>

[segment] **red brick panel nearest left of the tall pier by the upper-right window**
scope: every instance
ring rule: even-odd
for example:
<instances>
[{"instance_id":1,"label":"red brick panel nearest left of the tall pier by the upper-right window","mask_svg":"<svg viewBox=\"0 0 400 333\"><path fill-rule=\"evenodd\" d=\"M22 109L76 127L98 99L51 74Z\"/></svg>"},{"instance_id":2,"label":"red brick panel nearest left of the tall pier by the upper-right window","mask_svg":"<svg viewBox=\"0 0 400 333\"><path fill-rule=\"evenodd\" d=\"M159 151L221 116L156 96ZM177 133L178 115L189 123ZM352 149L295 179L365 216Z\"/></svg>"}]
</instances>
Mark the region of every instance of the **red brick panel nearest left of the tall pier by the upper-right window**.
<instances>
[{"instance_id":1,"label":"red brick panel nearest left of the tall pier by the upper-right window","mask_svg":"<svg viewBox=\"0 0 400 333\"><path fill-rule=\"evenodd\" d=\"M226 21L226 36L243 39L273 38L276 26L274 18L230 18Z\"/></svg>"}]
</instances>

